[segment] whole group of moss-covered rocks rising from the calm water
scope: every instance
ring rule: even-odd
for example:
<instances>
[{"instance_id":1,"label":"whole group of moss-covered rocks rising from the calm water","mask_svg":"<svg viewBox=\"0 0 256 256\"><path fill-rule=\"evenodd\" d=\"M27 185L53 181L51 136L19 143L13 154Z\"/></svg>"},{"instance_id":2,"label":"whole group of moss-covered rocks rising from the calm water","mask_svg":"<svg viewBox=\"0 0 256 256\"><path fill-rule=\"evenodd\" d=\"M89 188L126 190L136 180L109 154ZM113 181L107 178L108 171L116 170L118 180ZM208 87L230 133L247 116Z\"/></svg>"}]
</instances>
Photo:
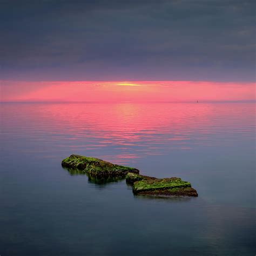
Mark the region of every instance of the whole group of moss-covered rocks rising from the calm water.
<instances>
[{"instance_id":1,"label":"whole group of moss-covered rocks rising from the calm water","mask_svg":"<svg viewBox=\"0 0 256 256\"><path fill-rule=\"evenodd\" d=\"M62 161L62 166L71 174L86 173L93 183L105 184L117 181L126 176L126 182L132 184L134 194L151 196L190 196L197 197L197 191L188 181L180 178L157 179L143 176L139 170L123 165L116 165L98 158L78 156L71 154ZM113 180L114 179L114 180Z\"/></svg>"}]
</instances>

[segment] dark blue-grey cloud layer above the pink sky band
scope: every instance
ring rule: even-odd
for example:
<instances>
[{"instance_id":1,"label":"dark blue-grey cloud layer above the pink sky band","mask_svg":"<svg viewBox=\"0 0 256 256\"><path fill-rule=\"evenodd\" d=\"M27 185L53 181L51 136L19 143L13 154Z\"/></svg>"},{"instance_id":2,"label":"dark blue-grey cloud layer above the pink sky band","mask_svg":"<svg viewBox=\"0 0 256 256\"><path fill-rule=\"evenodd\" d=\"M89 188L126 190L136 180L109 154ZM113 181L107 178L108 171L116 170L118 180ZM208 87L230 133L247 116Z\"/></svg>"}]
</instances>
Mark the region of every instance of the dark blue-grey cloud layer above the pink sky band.
<instances>
[{"instance_id":1,"label":"dark blue-grey cloud layer above the pink sky band","mask_svg":"<svg viewBox=\"0 0 256 256\"><path fill-rule=\"evenodd\" d=\"M0 3L3 79L254 79L254 1Z\"/></svg>"}]
</instances>

